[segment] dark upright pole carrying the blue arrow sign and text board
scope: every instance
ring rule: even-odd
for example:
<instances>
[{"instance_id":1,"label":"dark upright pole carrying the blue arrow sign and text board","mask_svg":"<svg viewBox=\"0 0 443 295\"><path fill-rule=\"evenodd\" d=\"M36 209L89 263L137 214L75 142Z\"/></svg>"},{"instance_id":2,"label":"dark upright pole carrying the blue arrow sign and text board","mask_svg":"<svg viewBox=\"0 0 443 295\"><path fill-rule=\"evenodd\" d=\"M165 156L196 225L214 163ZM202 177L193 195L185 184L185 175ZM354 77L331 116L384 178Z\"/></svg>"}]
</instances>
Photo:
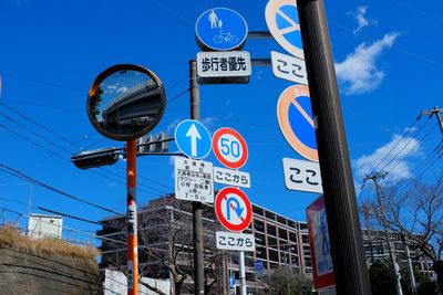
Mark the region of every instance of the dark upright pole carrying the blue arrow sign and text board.
<instances>
[{"instance_id":1,"label":"dark upright pole carrying the blue arrow sign and text board","mask_svg":"<svg viewBox=\"0 0 443 295\"><path fill-rule=\"evenodd\" d=\"M200 92L197 82L197 63L189 61L190 118L200 119ZM200 202L193 202L194 236L194 294L205 294L205 272L203 264L203 208Z\"/></svg>"}]
</instances>

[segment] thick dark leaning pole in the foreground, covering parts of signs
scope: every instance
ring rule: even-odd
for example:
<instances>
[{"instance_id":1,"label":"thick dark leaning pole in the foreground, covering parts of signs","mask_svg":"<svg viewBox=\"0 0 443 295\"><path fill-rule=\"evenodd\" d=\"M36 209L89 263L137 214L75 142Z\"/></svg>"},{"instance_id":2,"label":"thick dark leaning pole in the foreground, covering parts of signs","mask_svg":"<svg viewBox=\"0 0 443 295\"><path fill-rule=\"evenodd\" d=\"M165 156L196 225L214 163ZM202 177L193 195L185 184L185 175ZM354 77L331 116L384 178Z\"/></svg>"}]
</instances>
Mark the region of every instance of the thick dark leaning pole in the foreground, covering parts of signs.
<instances>
[{"instance_id":1,"label":"thick dark leaning pole in the foreground, covering parts of signs","mask_svg":"<svg viewBox=\"0 0 443 295\"><path fill-rule=\"evenodd\" d=\"M371 286L323 1L298 0L297 9L337 294L369 295Z\"/></svg>"}]
</instances>

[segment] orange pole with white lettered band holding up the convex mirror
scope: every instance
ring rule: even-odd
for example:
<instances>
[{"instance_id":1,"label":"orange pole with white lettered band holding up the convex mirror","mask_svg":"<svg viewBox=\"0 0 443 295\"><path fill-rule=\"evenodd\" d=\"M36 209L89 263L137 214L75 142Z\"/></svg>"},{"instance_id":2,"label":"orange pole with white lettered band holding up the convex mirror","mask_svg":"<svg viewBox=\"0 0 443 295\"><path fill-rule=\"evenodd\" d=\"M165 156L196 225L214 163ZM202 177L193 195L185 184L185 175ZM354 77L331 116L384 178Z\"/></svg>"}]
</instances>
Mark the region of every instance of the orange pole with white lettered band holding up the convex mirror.
<instances>
[{"instance_id":1,"label":"orange pole with white lettered band holding up the convex mirror","mask_svg":"<svg viewBox=\"0 0 443 295\"><path fill-rule=\"evenodd\" d=\"M136 140L126 141L127 183L127 294L138 294Z\"/></svg>"}]
</instances>

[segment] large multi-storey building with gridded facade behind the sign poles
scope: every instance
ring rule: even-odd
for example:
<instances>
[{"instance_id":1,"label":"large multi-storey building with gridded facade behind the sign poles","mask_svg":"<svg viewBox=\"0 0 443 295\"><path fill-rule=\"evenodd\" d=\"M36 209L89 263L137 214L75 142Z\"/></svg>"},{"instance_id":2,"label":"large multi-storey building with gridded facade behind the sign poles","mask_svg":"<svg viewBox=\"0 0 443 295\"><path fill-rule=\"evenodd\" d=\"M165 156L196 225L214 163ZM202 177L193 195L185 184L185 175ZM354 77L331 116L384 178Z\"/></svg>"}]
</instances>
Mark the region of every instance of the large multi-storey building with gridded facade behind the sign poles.
<instances>
[{"instance_id":1,"label":"large multi-storey building with gridded facade behind the sign poles","mask_svg":"<svg viewBox=\"0 0 443 295\"><path fill-rule=\"evenodd\" d=\"M205 285L209 294L228 294L229 277L239 287L238 252L215 247L215 232L224 231L212 204L203 204ZM126 265L125 217L102 220L101 267ZM278 267L310 276L312 272L308 226L266 208L253 204L253 221L245 233L253 233L256 251L245 253L246 283L249 294L266 294L260 277ZM138 264L144 276L172 282L172 292L192 294L193 234L192 202L173 194L152 200L138 212ZM256 270L259 264L262 270ZM183 282L182 282L183 281ZM175 282L175 284L173 283ZM237 292L238 293L238 292Z\"/></svg>"}]
</instances>

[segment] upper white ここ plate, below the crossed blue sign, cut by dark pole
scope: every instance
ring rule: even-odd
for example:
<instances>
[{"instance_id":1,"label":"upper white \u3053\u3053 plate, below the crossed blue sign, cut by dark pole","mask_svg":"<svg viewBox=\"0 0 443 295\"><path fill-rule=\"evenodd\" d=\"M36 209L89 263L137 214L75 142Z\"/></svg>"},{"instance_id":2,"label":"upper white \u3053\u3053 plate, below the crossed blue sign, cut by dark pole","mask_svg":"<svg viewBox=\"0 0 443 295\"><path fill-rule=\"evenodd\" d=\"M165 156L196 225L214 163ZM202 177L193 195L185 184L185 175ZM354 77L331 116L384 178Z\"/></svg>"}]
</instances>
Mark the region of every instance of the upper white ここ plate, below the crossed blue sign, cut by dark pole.
<instances>
[{"instance_id":1,"label":"upper white \u3053\u3053 plate, below the crossed blue sign, cut by dark pole","mask_svg":"<svg viewBox=\"0 0 443 295\"><path fill-rule=\"evenodd\" d=\"M281 54L276 51L270 52L272 62L272 73L276 77L308 85L308 74L303 60Z\"/></svg>"}]
</instances>

